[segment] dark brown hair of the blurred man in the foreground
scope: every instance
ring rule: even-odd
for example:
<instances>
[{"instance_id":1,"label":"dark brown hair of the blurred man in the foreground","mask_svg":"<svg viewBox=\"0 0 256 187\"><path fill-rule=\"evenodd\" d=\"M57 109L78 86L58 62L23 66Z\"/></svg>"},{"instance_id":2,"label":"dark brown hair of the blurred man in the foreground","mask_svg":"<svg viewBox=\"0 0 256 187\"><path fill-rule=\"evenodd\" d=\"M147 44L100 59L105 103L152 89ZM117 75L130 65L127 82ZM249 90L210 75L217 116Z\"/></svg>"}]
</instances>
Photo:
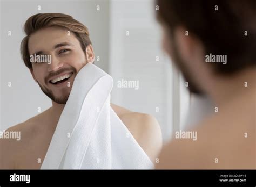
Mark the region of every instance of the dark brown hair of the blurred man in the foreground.
<instances>
[{"instance_id":1,"label":"dark brown hair of the blurred man in the foreground","mask_svg":"<svg viewBox=\"0 0 256 187\"><path fill-rule=\"evenodd\" d=\"M255 0L157 0L156 5L157 18L171 35L177 26L184 26L203 43L205 55L227 55L227 64L213 63L217 73L255 66Z\"/></svg>"}]
</instances>

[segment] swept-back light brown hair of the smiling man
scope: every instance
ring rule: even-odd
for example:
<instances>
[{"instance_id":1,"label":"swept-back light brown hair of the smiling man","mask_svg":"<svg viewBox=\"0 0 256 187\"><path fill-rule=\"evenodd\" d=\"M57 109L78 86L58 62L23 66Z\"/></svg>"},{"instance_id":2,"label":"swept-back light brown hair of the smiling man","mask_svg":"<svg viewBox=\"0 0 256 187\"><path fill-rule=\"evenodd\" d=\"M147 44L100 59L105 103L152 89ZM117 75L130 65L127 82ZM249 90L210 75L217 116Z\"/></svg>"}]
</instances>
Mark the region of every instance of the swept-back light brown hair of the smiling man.
<instances>
[{"instance_id":1,"label":"swept-back light brown hair of the smiling man","mask_svg":"<svg viewBox=\"0 0 256 187\"><path fill-rule=\"evenodd\" d=\"M21 55L26 67L32 68L28 48L30 35L42 28L51 26L63 27L75 33L84 52L86 47L91 44L87 27L76 19L73 19L72 16L63 13L38 13L26 20L24 25L26 37L21 42Z\"/></svg>"}]
</instances>

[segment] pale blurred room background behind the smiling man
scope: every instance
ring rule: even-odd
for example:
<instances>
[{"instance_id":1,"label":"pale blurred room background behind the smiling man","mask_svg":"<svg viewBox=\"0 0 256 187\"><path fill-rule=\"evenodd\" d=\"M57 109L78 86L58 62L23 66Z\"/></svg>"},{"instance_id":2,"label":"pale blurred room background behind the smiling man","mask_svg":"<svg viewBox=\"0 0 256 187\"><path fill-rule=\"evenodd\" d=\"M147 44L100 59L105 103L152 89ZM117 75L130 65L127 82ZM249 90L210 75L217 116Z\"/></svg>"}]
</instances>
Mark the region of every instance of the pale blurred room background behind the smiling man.
<instances>
[{"instance_id":1,"label":"pale blurred room background behind the smiling man","mask_svg":"<svg viewBox=\"0 0 256 187\"><path fill-rule=\"evenodd\" d=\"M164 142L173 132L192 128L191 125L208 112L208 99L189 95L185 81L161 48L161 27L155 18L154 1L3 0L0 15L0 131L51 106L51 100L33 81L19 52L26 19L36 13L48 12L66 13L89 28L95 64L114 80L111 102L156 117ZM139 89L118 88L117 83L122 79L139 81ZM191 109L193 107L195 110ZM187 114L189 120L186 120Z\"/></svg>"}]
</instances>

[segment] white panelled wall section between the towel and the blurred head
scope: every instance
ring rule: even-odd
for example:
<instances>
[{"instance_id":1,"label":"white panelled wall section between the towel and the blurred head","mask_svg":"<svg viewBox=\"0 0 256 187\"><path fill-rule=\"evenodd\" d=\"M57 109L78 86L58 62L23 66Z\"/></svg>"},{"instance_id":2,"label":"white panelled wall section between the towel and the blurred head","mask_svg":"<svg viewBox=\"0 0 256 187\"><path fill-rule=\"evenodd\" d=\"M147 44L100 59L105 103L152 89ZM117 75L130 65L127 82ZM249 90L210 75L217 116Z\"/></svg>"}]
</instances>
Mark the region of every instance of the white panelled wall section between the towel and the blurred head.
<instances>
[{"instance_id":1,"label":"white panelled wall section between the towel and the blurred head","mask_svg":"<svg viewBox=\"0 0 256 187\"><path fill-rule=\"evenodd\" d=\"M112 102L152 114L161 125L164 140L169 139L172 67L161 50L161 28L153 1L112 1L110 12L110 74L115 81ZM118 88L122 79L139 81L139 89Z\"/></svg>"}]
</instances>

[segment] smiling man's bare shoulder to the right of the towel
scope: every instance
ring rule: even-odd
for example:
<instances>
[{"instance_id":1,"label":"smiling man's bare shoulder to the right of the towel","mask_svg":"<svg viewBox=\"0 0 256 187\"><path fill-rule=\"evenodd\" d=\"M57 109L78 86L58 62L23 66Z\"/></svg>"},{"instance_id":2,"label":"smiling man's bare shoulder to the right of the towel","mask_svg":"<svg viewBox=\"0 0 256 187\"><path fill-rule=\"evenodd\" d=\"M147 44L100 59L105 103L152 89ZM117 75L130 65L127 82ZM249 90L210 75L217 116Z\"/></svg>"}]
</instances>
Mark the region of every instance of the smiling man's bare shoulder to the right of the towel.
<instances>
[{"instance_id":1,"label":"smiling man's bare shoulder to the right of the towel","mask_svg":"<svg viewBox=\"0 0 256 187\"><path fill-rule=\"evenodd\" d=\"M156 118L150 114L132 112L114 104L111 104L111 107L140 147L143 148L152 162L155 162L162 147L161 129Z\"/></svg>"}]
</instances>

